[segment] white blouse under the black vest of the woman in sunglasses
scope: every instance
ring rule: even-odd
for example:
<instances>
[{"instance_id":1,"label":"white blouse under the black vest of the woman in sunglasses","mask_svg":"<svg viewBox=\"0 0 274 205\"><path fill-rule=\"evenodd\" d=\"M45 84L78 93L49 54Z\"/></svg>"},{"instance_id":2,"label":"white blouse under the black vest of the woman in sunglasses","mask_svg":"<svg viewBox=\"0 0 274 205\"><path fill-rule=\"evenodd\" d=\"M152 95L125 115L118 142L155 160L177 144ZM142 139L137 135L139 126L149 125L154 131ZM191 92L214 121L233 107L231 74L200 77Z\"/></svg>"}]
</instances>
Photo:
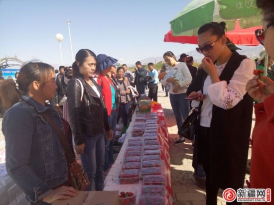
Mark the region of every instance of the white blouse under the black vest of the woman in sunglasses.
<instances>
[{"instance_id":1,"label":"white blouse under the black vest of the woman in sunglasses","mask_svg":"<svg viewBox=\"0 0 274 205\"><path fill-rule=\"evenodd\" d=\"M226 63L220 66L215 64L217 74L220 77ZM255 62L244 59L239 68L234 72L229 84L221 81L212 84L210 76L204 82L203 94L206 95L201 108L200 125L210 127L213 104L223 109L230 109L243 100L247 82L254 77Z\"/></svg>"}]
</instances>

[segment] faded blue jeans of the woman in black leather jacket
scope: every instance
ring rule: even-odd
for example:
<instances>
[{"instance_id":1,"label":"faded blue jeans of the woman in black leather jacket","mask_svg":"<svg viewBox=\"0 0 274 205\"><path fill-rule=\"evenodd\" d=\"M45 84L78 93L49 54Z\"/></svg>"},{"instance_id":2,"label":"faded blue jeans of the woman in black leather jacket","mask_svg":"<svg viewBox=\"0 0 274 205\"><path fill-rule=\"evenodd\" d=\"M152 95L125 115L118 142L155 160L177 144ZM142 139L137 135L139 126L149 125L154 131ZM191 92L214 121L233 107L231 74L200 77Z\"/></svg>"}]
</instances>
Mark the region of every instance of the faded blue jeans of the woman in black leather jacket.
<instances>
[{"instance_id":1,"label":"faded blue jeans of the woman in black leather jacket","mask_svg":"<svg viewBox=\"0 0 274 205\"><path fill-rule=\"evenodd\" d=\"M86 146L84 154L81 155L81 160L90 181L90 186L86 191L103 191L104 139L105 134L85 137Z\"/></svg>"}]
</instances>

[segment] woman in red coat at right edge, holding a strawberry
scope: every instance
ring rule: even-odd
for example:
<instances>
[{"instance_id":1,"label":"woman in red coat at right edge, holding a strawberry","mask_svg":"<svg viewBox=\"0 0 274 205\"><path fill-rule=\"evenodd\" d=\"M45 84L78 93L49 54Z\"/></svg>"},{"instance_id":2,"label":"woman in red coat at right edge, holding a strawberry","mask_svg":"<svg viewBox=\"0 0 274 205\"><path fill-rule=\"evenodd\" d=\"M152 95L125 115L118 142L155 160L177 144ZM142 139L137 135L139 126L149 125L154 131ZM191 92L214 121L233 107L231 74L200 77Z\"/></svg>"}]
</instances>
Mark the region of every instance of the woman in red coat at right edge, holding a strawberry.
<instances>
[{"instance_id":1,"label":"woman in red coat at right edge, holding a strawberry","mask_svg":"<svg viewBox=\"0 0 274 205\"><path fill-rule=\"evenodd\" d=\"M256 36L267 53L274 57L274 3L273 0L257 0L263 11L263 29ZM255 105L256 124L252 134L250 187L272 190L274 200L274 81L266 76L255 76L247 83L247 92L263 103ZM252 203L256 204L256 203Z\"/></svg>"}]
</instances>

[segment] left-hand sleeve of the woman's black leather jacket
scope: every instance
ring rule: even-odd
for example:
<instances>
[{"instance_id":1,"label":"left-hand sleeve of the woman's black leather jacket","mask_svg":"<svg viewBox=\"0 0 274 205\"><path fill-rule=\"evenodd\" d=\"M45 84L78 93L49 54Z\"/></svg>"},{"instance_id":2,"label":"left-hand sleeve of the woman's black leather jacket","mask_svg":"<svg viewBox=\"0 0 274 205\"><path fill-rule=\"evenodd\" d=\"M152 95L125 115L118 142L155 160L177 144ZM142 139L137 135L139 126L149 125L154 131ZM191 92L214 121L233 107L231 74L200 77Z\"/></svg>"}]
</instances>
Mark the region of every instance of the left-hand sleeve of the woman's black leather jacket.
<instances>
[{"instance_id":1,"label":"left-hand sleeve of the woman's black leather jacket","mask_svg":"<svg viewBox=\"0 0 274 205\"><path fill-rule=\"evenodd\" d=\"M67 102L69 105L69 117L74 141L76 145L85 143L85 135L81 124L81 85L77 80L68 82Z\"/></svg>"}]
</instances>

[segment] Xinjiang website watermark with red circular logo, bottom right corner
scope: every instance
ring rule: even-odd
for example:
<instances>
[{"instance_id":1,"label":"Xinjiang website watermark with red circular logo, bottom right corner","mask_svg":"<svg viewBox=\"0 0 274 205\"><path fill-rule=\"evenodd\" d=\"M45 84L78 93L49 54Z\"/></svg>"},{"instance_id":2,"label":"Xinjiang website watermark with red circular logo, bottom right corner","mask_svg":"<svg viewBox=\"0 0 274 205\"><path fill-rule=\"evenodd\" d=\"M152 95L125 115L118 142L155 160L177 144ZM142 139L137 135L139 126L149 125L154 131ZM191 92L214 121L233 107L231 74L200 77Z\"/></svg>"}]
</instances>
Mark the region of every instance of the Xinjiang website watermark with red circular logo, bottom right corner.
<instances>
[{"instance_id":1,"label":"Xinjiang website watermark with red circular logo, bottom right corner","mask_svg":"<svg viewBox=\"0 0 274 205\"><path fill-rule=\"evenodd\" d=\"M228 188L223 192L226 202L271 202L271 189L234 189Z\"/></svg>"}]
</instances>

